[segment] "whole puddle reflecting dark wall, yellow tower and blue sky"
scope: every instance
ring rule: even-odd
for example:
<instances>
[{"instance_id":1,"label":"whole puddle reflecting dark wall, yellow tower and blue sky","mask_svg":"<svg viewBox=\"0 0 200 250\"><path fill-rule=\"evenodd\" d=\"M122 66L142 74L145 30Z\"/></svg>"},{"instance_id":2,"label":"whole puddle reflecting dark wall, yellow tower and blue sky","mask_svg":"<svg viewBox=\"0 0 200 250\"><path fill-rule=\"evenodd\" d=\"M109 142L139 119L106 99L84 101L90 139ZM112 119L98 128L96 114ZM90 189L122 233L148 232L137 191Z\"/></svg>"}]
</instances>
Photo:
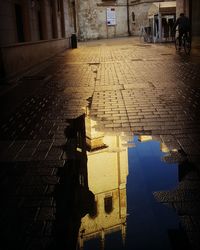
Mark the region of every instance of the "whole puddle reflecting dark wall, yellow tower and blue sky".
<instances>
[{"instance_id":1,"label":"whole puddle reflecting dark wall, yellow tower and blue sky","mask_svg":"<svg viewBox=\"0 0 200 250\"><path fill-rule=\"evenodd\" d=\"M107 134L90 117L78 119L66 129L66 164L56 189L61 249L180 249L179 217L157 197L180 179L178 164L164 160L166 145L151 136Z\"/></svg>"}]
</instances>

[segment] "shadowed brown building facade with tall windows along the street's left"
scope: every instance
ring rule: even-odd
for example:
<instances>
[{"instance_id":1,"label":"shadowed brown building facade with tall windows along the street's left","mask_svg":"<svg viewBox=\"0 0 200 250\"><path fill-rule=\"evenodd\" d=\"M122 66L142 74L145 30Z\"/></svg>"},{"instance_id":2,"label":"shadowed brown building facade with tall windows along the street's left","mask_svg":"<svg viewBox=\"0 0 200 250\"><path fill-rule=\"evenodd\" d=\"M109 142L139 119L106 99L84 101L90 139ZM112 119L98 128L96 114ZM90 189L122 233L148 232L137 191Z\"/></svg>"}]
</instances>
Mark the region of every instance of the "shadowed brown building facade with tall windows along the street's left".
<instances>
[{"instance_id":1,"label":"shadowed brown building facade with tall windows along the street's left","mask_svg":"<svg viewBox=\"0 0 200 250\"><path fill-rule=\"evenodd\" d=\"M74 16L71 0L0 0L0 78L69 47Z\"/></svg>"}]
</instances>

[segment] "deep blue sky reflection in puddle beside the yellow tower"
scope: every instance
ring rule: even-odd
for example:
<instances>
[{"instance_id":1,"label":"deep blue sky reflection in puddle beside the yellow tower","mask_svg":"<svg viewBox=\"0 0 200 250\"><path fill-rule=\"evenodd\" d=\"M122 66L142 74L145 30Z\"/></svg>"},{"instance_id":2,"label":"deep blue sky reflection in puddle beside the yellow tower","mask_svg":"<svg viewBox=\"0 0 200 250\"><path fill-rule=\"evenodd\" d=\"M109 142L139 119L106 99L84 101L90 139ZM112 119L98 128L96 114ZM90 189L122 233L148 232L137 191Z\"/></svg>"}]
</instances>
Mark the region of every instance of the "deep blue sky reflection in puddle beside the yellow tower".
<instances>
[{"instance_id":1,"label":"deep blue sky reflection in puddle beside the yellow tower","mask_svg":"<svg viewBox=\"0 0 200 250\"><path fill-rule=\"evenodd\" d=\"M130 245L136 249L172 249L168 232L179 229L175 212L153 196L157 190L177 185L178 169L161 161L167 148L150 139L135 137L136 147L129 149L127 249Z\"/></svg>"}]
</instances>

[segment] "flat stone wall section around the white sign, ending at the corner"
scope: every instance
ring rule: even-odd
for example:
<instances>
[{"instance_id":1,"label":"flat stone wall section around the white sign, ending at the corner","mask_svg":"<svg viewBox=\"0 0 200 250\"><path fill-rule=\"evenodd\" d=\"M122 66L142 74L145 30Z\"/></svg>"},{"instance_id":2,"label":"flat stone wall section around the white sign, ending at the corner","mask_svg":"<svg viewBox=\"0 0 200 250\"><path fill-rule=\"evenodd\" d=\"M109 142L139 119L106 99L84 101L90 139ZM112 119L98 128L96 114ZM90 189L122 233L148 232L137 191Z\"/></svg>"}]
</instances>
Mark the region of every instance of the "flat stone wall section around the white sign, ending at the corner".
<instances>
[{"instance_id":1,"label":"flat stone wall section around the white sign, ending at the corner","mask_svg":"<svg viewBox=\"0 0 200 250\"><path fill-rule=\"evenodd\" d=\"M126 0L104 2L101 0L77 1L78 37L80 40L112 38L128 35ZM116 24L107 25L107 9L112 8Z\"/></svg>"}]
</instances>

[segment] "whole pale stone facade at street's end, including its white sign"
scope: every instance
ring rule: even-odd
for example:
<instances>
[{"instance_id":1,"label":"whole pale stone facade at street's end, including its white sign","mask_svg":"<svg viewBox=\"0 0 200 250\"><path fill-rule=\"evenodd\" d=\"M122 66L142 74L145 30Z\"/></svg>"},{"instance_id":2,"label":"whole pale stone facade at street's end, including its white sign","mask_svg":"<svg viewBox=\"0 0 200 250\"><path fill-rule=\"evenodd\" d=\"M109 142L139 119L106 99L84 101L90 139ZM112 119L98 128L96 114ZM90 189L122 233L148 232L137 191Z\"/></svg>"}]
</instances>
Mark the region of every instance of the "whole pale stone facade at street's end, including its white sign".
<instances>
[{"instance_id":1,"label":"whole pale stone facade at street's end, including its white sign","mask_svg":"<svg viewBox=\"0 0 200 250\"><path fill-rule=\"evenodd\" d=\"M153 2L159 1L76 0L78 38L89 40L139 35L141 26L149 25L148 10Z\"/></svg>"}]
</instances>

